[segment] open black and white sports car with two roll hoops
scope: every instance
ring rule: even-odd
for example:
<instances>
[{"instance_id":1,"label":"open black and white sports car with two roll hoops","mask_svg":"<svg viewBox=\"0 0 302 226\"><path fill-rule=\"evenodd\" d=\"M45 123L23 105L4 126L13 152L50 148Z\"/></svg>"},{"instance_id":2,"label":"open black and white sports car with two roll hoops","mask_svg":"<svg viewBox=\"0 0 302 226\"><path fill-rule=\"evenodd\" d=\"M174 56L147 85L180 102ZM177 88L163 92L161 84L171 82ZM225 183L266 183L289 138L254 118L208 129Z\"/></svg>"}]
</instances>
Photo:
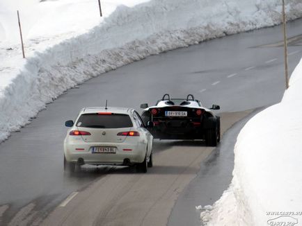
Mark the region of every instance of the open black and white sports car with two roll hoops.
<instances>
[{"instance_id":1,"label":"open black and white sports car with two roll hoops","mask_svg":"<svg viewBox=\"0 0 302 226\"><path fill-rule=\"evenodd\" d=\"M170 98L165 94L156 105L143 108L144 123L153 123L148 130L158 139L203 139L207 146L216 146L220 141L220 117L211 110L219 110L218 105L207 109L189 94L186 99Z\"/></svg>"}]
</instances>

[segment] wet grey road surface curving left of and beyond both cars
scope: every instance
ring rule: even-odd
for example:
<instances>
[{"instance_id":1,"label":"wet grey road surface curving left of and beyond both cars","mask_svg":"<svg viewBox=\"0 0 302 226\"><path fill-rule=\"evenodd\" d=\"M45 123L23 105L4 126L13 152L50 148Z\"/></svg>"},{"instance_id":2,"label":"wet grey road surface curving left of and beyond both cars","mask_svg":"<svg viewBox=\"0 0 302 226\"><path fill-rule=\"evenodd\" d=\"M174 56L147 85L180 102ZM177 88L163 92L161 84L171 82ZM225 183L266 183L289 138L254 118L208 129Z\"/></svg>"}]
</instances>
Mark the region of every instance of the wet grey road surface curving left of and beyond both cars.
<instances>
[{"instance_id":1,"label":"wet grey road surface curving left of and beyond both cars","mask_svg":"<svg viewBox=\"0 0 302 226\"><path fill-rule=\"evenodd\" d=\"M302 20L288 24L289 37L301 35L301 28ZM278 45L282 37L280 26L223 37L151 56L71 89L0 145L2 223L31 202L35 202L31 212L38 211L42 218L72 191L84 190L114 171L88 168L90 173L75 177L63 173L63 124L74 119L81 107L104 105L108 99L109 105L138 109L140 103L154 103L164 93L175 97L191 93L205 106L221 105L221 112L277 103L285 87L283 48ZM301 51L301 42L289 43L290 73Z\"/></svg>"}]
</instances>

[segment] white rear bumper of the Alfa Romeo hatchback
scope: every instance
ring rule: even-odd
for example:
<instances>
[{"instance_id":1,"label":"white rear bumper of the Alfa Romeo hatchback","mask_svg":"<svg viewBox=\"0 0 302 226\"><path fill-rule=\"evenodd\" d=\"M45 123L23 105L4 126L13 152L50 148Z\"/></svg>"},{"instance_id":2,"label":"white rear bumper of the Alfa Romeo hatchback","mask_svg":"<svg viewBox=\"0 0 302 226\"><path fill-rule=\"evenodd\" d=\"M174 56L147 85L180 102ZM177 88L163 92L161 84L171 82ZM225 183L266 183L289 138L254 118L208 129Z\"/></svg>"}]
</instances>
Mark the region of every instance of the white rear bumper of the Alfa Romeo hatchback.
<instances>
[{"instance_id":1,"label":"white rear bumper of the Alfa Romeo hatchback","mask_svg":"<svg viewBox=\"0 0 302 226\"><path fill-rule=\"evenodd\" d=\"M116 153L92 153L93 147L116 147ZM129 150L131 149L131 150ZM138 164L143 162L146 155L146 144L116 144L116 143L64 143L64 154L67 162L77 163L79 159L84 160L84 164Z\"/></svg>"}]
</instances>

